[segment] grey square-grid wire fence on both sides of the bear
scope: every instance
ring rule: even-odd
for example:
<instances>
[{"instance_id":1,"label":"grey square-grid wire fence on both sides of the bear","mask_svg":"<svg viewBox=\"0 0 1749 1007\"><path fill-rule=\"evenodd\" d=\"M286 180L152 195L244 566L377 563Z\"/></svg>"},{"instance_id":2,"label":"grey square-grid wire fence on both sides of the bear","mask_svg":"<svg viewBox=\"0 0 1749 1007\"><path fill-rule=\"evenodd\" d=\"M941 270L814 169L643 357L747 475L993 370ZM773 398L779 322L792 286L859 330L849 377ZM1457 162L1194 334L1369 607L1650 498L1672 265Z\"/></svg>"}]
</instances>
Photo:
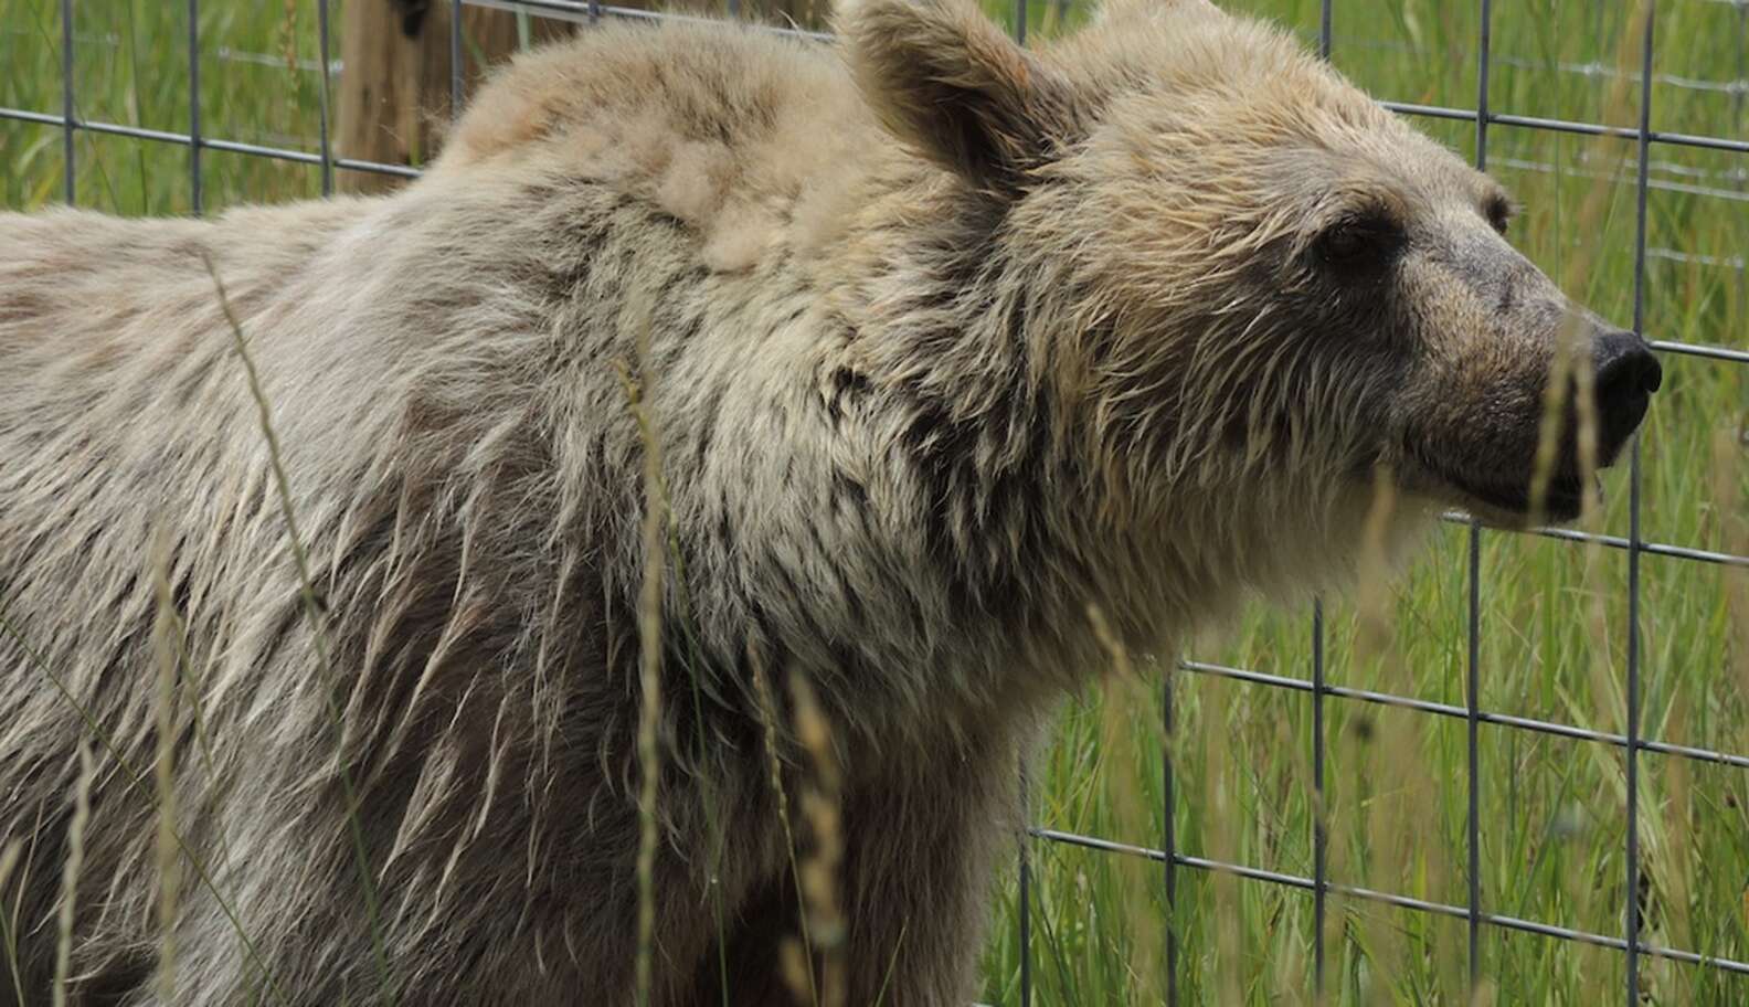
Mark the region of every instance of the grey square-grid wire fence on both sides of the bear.
<instances>
[{"instance_id":1,"label":"grey square-grid wire fence on both sides of the bear","mask_svg":"<svg viewBox=\"0 0 1749 1007\"><path fill-rule=\"evenodd\" d=\"M519 10L528 14L537 14L542 17L554 17L563 21L574 21L581 24L595 24L603 17L616 19L698 19L679 14L654 14L649 10L637 10L630 7L614 7L602 3L600 0L449 0L456 14L463 5L477 7L495 7L505 10ZM1744 5L1746 0L1728 0ZM1504 112L1494 112L1488 105L1488 70L1492 65L1490 58L1490 19L1492 19L1492 0L1478 0L1481 16L1481 31L1478 38L1478 89L1476 89L1476 107L1474 108L1450 108L1441 105L1415 105L1403 101L1382 101L1385 108L1399 112L1403 115L1418 115L1432 119L1450 119L1462 122L1474 122L1476 129L1476 166L1487 168L1488 164L1488 128L1494 124L1502 126L1520 126L1529 129L1543 129L1553 133L1571 133L1581 136L1614 136L1623 140L1634 140L1637 145L1637 175L1635 175L1635 245L1634 245L1634 332L1644 336L1644 306L1646 306L1646 194L1649 189L1648 168L1651 161L1651 147L1655 143L1688 147L1688 149L1707 149L1707 150L1726 150L1735 154L1749 154L1749 140L1735 140L1725 136L1700 136L1686 133L1669 133L1651 128L1651 93L1653 93L1653 23L1656 16L1656 0L1646 0L1644 3L1644 23L1641 26L1641 87L1639 87L1639 124L1635 128L1604 126L1597 122L1578 122L1565 119L1546 119L1534 115L1511 115ZM1333 24L1334 0L1320 2L1320 23L1319 23L1319 54L1327 58L1331 51L1331 24ZM740 14L740 0L728 0L728 10L731 16ZM269 157L276 161L290 161L301 164L311 164L320 170L322 194L332 194L334 191L334 171L371 171L381 175L397 177L416 177L418 170L406 168L401 164L381 164L371 161L355 161L346 157L336 157L332 142L329 136L331 126L331 101L329 101L329 3L327 0L317 0L317 31L320 47L320 65L324 72L320 75L318 87L318 122L320 122L320 147L318 150L297 150L289 147L271 147L261 143L243 143L236 140L226 140L219 136L206 136L201 129L201 77L199 77L199 0L187 0L187 65L189 65L189 128L187 133L173 133L163 129L143 129L138 126L126 126L117 122L101 122L82 119L79 115L75 89L73 89L73 0L59 0L59 21L61 21L61 110L59 114L31 108L7 108L0 107L0 119L14 119L23 122L37 122L44 126L58 126L63 131L63 157L65 157L65 177L63 177L63 196L68 205L75 203L75 136L79 131L89 131L98 135L112 136L131 136L136 140L152 140L161 143L175 143L189 149L189 196L194 213L201 212L201 152L203 150L222 150L254 157ZM819 31L799 31L785 28L770 28L771 31L801 35L808 38L829 38L826 33ZM1014 38L1025 42L1027 38L1027 0L1014 0ZM462 77L462 17L455 16L449 19L449 56L451 56L451 108L463 107L463 77ZM1711 360L1723 360L1737 365L1749 364L1749 350L1737 350L1730 346L1709 346L1709 344L1691 344L1691 343L1674 343L1653 339L1651 346L1660 353L1679 355L1679 357L1702 357ZM1711 748L1697 748L1690 745L1676 745L1669 741L1648 740L1641 736L1641 626L1639 626L1639 608L1641 608L1641 556L1669 556L1676 559L1684 559L1691 563L1711 563L1726 566L1749 568L1749 556L1737 556L1730 552L1716 552L1707 549L1693 549L1686 545L1648 542L1641 537L1641 451L1639 442L1634 442L1630 455L1630 491L1628 491L1628 535L1600 535L1588 531L1574 531L1562 528L1539 528L1530 531L1532 535L1564 538L1569 542L1590 542L1609 549L1621 549L1627 552L1628 559L1628 621L1627 621L1627 733L1614 734L1607 731L1593 731L1588 727L1579 727L1572 724L1558 724L1550 720L1536 720L1529 717L1513 717L1504 713L1490 713L1478 705L1478 663L1480 663L1480 642L1481 642L1481 528L1462 514L1446 514L1446 521L1462 523L1469 526L1469 551L1467 551L1467 619L1466 619L1466 636L1467 636L1467 668L1464 682L1464 705L1455 706L1450 703L1434 703L1427 699L1417 699L1410 696L1397 696L1389 692L1373 692L1366 689L1352 689L1347 685L1331 685L1326 678L1324 668L1324 612L1322 605L1313 605L1312 612L1312 675L1310 678L1294 678L1284 675L1268 675L1261 671L1251 671L1244 668L1230 668L1221 664L1209 664L1200 661L1182 661L1179 670L1189 671L1193 675L1207 675L1238 682L1249 682L1254 685L1265 685L1273 689L1287 689L1294 692L1305 692L1312 698L1312 773L1313 773L1313 790L1315 790L1315 808L1322 808L1322 790L1324 790L1324 757L1326 757L1326 729L1324 729L1324 706L1326 699L1347 699L1357 703L1371 703L1394 706L1401 710L1413 710L1434 717L1462 719L1467 727L1467 764L1469 764L1469 816L1467 816L1467 881L1469 897L1464 906L1453 906L1446 902L1429 902L1424 899L1413 899L1408 895L1399 895L1392 892L1378 892L1371 888L1361 888L1354 885L1345 885L1340 881L1331 881L1327 874L1327 843L1329 830L1322 816L1315 820L1313 825L1313 869L1312 876L1284 874L1279 871L1268 871L1259 867L1249 867L1244 864L1230 864L1223 860L1210 860L1205 857L1193 857L1182 853L1177 848L1177 837L1174 836L1174 778L1172 778L1172 759L1168 748L1161 748L1161 767L1165 778L1165 808L1163 822L1165 830L1160 848L1133 846L1128 843L1118 843L1112 839L1102 839L1097 836L1079 836L1074 832L1062 832L1056 829L1046 829L1039 825L1028 825L1027 836L1021 839L1020 851L1020 953L1021 953L1021 972L1020 972L1020 1004L1030 1007L1032 1004L1032 934L1030 934L1030 890L1032 890L1032 865L1030 865L1030 843L1028 839L1039 839L1048 843L1063 843L1072 846L1081 846L1088 850L1107 851L1114 855L1142 857L1161 864L1167 906L1174 904L1177 895L1177 869L1188 867L1193 871L1212 871L1226 872L1237 878L1259 881L1266 885L1282 885L1289 888L1308 890L1313 895L1313 990L1324 990L1324 958L1326 958L1326 941L1324 941L1324 920L1327 914L1326 895L1338 893L1347 899L1359 899L1366 902L1378 902L1385 906L1394 906L1401 909L1410 909L1417 913L1431 913L1448 918L1462 918L1467 921L1469 937L1469 981L1474 984L1480 977L1480 956L1478 944L1483 927L1497 927L1504 930L1518 930L1525 934L1539 934L1544 937L1553 937L1558 941L1572 941L1583 944L1593 944L1600 948L1611 948L1621 951L1627 963L1627 986L1623 995L1627 1004L1632 1007L1639 1002L1639 965L1642 956L1669 958L1674 962L1684 962L1690 965L1718 969L1725 972L1735 972L1749 976L1749 962L1737 962L1730 958L1719 958L1711 955L1700 955L1695 951L1684 951L1679 948L1665 948L1658 944L1648 944L1641 941L1641 920L1639 906L1634 897L1637 892L1637 879L1641 871L1641 851L1639 851L1639 754L1653 752L1662 755L1676 755L1683 759L1691 759L1698 762L1712 762L1723 766L1735 766L1749 769L1749 755L1739 755L1730 752L1718 752ZM1161 703L1165 712L1167 733L1172 731L1172 685L1177 675L1168 675L1161 687ZM1627 899L1623 906L1623 934L1620 937L1607 934L1595 934L1586 930L1574 930L1567 927L1557 927L1551 923L1543 923L1536 920L1523 920L1516 916L1506 916L1501 913L1490 913L1481 904L1481 839L1480 839L1480 820L1478 820L1478 799L1480 799L1480 748L1478 748L1478 729L1481 724L1501 726L1515 731L1527 731L1536 734L1551 734L1560 738L1572 738L1581 741L1593 741L1602 745L1611 745L1625 750L1627 759L1627 822L1628 827L1623 836L1625 844L1625 867L1627 867ZM1177 937L1168 925L1165 928L1165 955L1167 955L1167 1004L1179 1002L1177 990Z\"/></svg>"}]
</instances>

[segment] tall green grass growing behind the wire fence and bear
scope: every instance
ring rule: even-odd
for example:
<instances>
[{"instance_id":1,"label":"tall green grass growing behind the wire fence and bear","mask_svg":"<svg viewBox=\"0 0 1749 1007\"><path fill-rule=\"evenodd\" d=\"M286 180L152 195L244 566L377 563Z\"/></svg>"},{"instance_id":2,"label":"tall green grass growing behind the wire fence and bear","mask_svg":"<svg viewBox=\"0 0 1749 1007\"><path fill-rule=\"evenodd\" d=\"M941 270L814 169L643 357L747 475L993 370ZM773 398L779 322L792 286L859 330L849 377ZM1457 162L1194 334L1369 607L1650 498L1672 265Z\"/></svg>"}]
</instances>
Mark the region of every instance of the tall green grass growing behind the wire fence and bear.
<instances>
[{"instance_id":1,"label":"tall green grass growing behind the wire fence and bear","mask_svg":"<svg viewBox=\"0 0 1749 1007\"><path fill-rule=\"evenodd\" d=\"M338 5L336 5L338 7ZM1235 0L1315 44L1315 0ZM1611 100L1635 65L1632 5L1497 3L1490 105L1515 115L1632 126ZM184 5L77 3L77 107L96 121L185 131ZM201 5L203 129L318 149L313 3ZM1065 23L1032 3L1028 24ZM1074 21L1081 9L1069 9ZM1476 5L1336 0L1334 63L1380 98L1473 108ZM336 23L339 19L336 17ZM1658 5L1651 121L1660 131L1749 138L1749 10L1719 0ZM334 45L338 52L338 44ZM1632 72L1632 70L1628 70ZM58 112L59 21L52 0L0 0L0 105ZM1474 126L1418 119L1474 157ZM1487 159L1518 196L1515 241L1578 299L1634 318L1635 145L1495 124ZM206 150L206 208L317 196L313 166ZM61 131L0 122L0 205L63 198ZM119 213L189 210L187 150L79 133L77 201ZM1749 348L1749 156L1655 145L1649 164L1644 320L1649 336ZM1586 208L1590 203L1590 208ZM1749 369L1665 355L1665 392L1641 437L1642 535L1749 554ZM1609 476L1597 530L1628 533L1628 479ZM1441 528L1389 591L1331 600L1329 680L1462 705L1469 531ZM1641 731L1749 754L1749 572L1644 556ZM1525 535L1480 542L1480 705L1541 720L1625 731L1628 558ZM1310 607L1256 610L1193 657L1307 678ZM1032 767L1034 822L1160 846L1165 829L1160 668L1069 705ZM1174 827L1181 851L1310 876L1319 818L1312 698L1207 675L1174 675ZM1329 872L1347 885L1462 906L1467 897L1467 745L1460 719L1326 699ZM1490 913L1620 935L1627 899L1625 759L1618 747L1480 729L1480 890ZM1642 886L1649 942L1749 960L1749 774L1674 755L1639 757ZM1154 862L1032 841L1032 981L1039 1004L1158 1002L1163 927L1177 935L1181 1002L1310 1000L1313 900L1305 890L1177 871L1165 914ZM1018 1000L1018 892L1002 878L985 955L985 1000ZM1467 993L1464 920L1329 897L1329 1004L1459 1002ZM1616 951L1483 928L1483 1002L1620 998ZM1644 960L1660 1004L1749 1000L1749 977Z\"/></svg>"}]
</instances>

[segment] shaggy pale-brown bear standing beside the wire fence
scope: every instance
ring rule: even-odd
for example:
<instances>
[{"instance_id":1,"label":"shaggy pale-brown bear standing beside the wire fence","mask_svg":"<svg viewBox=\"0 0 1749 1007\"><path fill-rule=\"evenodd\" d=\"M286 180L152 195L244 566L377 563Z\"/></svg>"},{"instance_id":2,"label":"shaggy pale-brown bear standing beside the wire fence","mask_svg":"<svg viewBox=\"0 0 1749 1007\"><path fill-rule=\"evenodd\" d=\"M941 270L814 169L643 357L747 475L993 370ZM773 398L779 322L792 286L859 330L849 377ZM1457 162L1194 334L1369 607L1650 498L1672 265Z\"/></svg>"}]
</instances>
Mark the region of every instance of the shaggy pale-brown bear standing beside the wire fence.
<instances>
[{"instance_id":1,"label":"shaggy pale-brown bear standing beside the wire fence","mask_svg":"<svg viewBox=\"0 0 1749 1007\"><path fill-rule=\"evenodd\" d=\"M1277 26L840 28L591 28L390 196L0 217L0 998L964 1004L1111 645L1571 519L1658 390Z\"/></svg>"}]
</instances>

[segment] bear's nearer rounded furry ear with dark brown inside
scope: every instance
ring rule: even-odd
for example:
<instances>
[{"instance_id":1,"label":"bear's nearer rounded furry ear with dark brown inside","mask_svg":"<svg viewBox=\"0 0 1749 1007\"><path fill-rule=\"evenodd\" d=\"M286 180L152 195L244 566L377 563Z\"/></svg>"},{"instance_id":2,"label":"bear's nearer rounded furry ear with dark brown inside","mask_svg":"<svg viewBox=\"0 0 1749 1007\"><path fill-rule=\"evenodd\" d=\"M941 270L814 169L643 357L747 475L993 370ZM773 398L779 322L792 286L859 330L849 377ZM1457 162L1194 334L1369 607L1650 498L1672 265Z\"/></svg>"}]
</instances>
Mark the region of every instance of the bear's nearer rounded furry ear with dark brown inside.
<instances>
[{"instance_id":1,"label":"bear's nearer rounded furry ear with dark brown inside","mask_svg":"<svg viewBox=\"0 0 1749 1007\"><path fill-rule=\"evenodd\" d=\"M866 0L841 31L881 124L981 189L1020 192L1076 131L1069 80L964 0Z\"/></svg>"}]
</instances>

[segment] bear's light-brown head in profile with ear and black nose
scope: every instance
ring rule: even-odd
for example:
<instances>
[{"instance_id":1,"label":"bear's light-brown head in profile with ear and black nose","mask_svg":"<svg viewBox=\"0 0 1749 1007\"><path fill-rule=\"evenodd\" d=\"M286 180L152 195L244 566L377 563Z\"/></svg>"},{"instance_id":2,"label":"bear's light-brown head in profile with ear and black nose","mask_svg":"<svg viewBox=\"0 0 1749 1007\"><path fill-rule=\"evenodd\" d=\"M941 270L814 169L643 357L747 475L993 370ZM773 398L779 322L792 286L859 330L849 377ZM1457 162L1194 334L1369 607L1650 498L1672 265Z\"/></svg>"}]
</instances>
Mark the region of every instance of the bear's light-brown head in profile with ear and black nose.
<instances>
[{"instance_id":1,"label":"bear's light-brown head in profile with ear and black nose","mask_svg":"<svg viewBox=\"0 0 1749 1007\"><path fill-rule=\"evenodd\" d=\"M1511 247L1495 180L1279 28L1116 3L1042 49L958 0L843 26L885 128L1051 288L1028 337L1118 493L1389 484L1497 524L1578 516L1658 390L1649 346Z\"/></svg>"}]
</instances>

